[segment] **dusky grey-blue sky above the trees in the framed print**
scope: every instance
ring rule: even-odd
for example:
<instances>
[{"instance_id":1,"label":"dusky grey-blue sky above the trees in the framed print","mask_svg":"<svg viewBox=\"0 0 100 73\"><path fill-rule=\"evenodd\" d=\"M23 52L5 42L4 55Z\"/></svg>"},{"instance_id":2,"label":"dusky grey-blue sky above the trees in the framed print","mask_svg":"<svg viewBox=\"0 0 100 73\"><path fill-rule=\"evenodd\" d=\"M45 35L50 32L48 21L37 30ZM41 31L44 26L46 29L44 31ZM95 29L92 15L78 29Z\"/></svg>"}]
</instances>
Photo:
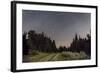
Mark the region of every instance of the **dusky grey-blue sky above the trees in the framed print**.
<instances>
[{"instance_id":1,"label":"dusky grey-blue sky above the trees in the framed print","mask_svg":"<svg viewBox=\"0 0 100 73\"><path fill-rule=\"evenodd\" d=\"M56 46L70 46L75 33L86 37L90 33L90 13L53 12L53 11L22 11L22 31L35 30L44 32Z\"/></svg>"}]
</instances>

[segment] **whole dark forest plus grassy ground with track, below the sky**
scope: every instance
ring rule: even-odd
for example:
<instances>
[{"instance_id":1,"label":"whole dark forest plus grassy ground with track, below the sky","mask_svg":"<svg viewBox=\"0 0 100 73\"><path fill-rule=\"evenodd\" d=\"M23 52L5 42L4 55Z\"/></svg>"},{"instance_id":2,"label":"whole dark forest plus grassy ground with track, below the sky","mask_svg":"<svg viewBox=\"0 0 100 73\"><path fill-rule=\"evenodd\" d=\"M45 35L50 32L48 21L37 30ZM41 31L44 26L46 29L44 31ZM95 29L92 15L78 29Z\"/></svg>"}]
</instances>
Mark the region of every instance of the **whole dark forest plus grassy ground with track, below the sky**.
<instances>
[{"instance_id":1,"label":"whole dark forest plus grassy ground with track, below the sky","mask_svg":"<svg viewBox=\"0 0 100 73\"><path fill-rule=\"evenodd\" d=\"M56 41L44 32L30 30L23 33L23 62L84 60L91 58L91 35L74 35L69 47L57 48Z\"/></svg>"}]
</instances>

